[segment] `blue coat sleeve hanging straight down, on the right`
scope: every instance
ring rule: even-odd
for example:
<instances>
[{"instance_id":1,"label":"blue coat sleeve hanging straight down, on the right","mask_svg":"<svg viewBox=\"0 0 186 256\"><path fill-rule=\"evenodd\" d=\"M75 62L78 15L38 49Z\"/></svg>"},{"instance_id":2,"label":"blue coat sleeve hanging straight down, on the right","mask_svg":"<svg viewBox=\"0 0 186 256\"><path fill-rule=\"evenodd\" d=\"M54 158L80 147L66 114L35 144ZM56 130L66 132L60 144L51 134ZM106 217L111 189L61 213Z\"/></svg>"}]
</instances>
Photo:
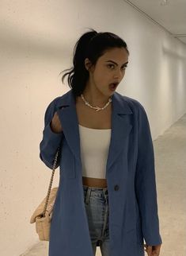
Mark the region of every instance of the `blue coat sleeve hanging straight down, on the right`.
<instances>
[{"instance_id":1,"label":"blue coat sleeve hanging straight down, on the right","mask_svg":"<svg viewBox=\"0 0 186 256\"><path fill-rule=\"evenodd\" d=\"M142 234L149 246L162 243L159 234L154 146L144 107L138 107L138 159L135 173L135 192L142 220Z\"/></svg>"}]
</instances>

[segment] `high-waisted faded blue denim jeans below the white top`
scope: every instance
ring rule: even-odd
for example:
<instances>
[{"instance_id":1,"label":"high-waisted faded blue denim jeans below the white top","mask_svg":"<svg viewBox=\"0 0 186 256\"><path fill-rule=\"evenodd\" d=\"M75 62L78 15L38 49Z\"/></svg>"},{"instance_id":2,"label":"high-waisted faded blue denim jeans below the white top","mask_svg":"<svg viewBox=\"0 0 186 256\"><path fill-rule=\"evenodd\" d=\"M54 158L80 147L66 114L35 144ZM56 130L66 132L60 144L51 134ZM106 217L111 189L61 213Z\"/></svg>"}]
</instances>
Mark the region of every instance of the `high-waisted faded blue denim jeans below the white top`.
<instances>
[{"instance_id":1,"label":"high-waisted faded blue denim jeans below the white top","mask_svg":"<svg viewBox=\"0 0 186 256\"><path fill-rule=\"evenodd\" d=\"M97 246L100 246L102 256L108 256L108 188L94 188L83 185L83 189L93 254L96 255Z\"/></svg>"}]
</instances>

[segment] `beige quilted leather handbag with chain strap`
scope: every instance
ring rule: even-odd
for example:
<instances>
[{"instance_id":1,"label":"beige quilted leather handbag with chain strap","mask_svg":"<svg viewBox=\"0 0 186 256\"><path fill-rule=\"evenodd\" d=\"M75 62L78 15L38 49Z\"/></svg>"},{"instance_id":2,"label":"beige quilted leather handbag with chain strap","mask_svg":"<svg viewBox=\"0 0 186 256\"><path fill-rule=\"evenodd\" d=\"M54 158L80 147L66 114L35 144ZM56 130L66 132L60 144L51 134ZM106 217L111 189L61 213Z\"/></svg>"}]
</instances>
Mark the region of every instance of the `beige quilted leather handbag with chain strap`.
<instances>
[{"instance_id":1,"label":"beige quilted leather handbag with chain strap","mask_svg":"<svg viewBox=\"0 0 186 256\"><path fill-rule=\"evenodd\" d=\"M57 150L57 153L55 154L55 161L52 168L53 170L51 173L49 188L47 190L47 196L33 212L32 217L30 219L30 223L36 222L36 233L39 235L39 239L41 241L49 241L50 236L52 210L55 204L55 197L58 191L58 187L51 189L51 184L55 173L55 165L57 162L58 154L59 148Z\"/></svg>"}]
</instances>

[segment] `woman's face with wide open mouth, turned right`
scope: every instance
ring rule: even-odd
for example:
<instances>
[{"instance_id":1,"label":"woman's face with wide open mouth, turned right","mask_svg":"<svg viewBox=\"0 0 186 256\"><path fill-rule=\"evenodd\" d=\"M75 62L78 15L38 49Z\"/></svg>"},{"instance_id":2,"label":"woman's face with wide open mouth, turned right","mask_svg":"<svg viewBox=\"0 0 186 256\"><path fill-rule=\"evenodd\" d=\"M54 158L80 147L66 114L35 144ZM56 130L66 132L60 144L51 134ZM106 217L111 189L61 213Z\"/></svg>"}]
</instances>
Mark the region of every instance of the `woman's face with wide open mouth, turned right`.
<instances>
[{"instance_id":1,"label":"woman's face with wide open mouth, turned right","mask_svg":"<svg viewBox=\"0 0 186 256\"><path fill-rule=\"evenodd\" d=\"M105 51L104 55L97 60L96 66L89 66L88 86L100 91L103 95L112 95L123 79L127 62L128 53L125 48L112 48ZM89 59L85 59L85 64L90 65ZM115 82L118 84L113 87L111 83Z\"/></svg>"}]
</instances>

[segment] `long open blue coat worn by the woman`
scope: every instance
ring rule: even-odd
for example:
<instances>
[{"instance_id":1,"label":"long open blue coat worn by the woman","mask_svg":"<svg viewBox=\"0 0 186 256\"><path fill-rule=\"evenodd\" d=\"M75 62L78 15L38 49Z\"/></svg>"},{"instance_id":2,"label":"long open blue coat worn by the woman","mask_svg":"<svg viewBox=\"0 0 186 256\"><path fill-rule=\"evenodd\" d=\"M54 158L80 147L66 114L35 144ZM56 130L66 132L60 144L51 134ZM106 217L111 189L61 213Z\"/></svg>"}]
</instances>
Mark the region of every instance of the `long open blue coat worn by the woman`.
<instances>
[{"instance_id":1,"label":"long open blue coat worn by the woman","mask_svg":"<svg viewBox=\"0 0 186 256\"><path fill-rule=\"evenodd\" d=\"M61 107L66 106L61 109ZM63 132L51 131L55 113ZM40 159L52 169L61 146L59 189L51 219L49 256L93 256L82 184L78 116L72 90L52 100L44 117ZM109 256L143 256L143 239L161 244L154 148L146 111L136 99L112 95L112 135L106 164Z\"/></svg>"}]
</instances>

